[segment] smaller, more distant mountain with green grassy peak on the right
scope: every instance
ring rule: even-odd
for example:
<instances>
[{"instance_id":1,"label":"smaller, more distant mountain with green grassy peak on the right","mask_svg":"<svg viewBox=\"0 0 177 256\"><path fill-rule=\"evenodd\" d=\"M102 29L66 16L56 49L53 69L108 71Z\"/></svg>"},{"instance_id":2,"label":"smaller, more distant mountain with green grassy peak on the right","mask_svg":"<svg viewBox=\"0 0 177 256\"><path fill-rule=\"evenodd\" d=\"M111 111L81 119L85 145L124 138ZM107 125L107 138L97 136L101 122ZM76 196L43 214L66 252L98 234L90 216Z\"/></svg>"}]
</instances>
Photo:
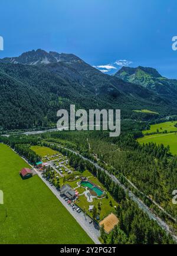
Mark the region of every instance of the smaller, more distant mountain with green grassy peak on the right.
<instances>
[{"instance_id":1,"label":"smaller, more distant mountain with green grassy peak on the right","mask_svg":"<svg viewBox=\"0 0 177 256\"><path fill-rule=\"evenodd\" d=\"M156 69L151 67L122 67L114 76L124 82L142 85L152 90L160 98L171 103L177 103L177 80L161 76Z\"/></svg>"}]
</instances>

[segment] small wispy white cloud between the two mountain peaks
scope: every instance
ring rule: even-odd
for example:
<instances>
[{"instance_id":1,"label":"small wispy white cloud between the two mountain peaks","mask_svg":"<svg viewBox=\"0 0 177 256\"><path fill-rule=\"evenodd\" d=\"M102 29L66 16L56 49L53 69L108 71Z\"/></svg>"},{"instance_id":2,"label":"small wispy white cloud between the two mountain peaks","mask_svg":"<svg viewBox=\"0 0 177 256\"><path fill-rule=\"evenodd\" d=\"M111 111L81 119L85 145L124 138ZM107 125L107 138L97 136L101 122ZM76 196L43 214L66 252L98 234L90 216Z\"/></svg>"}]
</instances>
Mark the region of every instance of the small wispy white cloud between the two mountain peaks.
<instances>
[{"instance_id":1,"label":"small wispy white cloud between the two mountain peaks","mask_svg":"<svg viewBox=\"0 0 177 256\"><path fill-rule=\"evenodd\" d=\"M115 62L110 63L110 64L97 65L97 66L93 66L93 67L95 67L96 69L99 69L103 73L107 73L114 69L115 70L120 69L120 67L123 67L123 66L128 67L130 64L132 64L132 61L130 61L130 60L116 60Z\"/></svg>"}]
</instances>

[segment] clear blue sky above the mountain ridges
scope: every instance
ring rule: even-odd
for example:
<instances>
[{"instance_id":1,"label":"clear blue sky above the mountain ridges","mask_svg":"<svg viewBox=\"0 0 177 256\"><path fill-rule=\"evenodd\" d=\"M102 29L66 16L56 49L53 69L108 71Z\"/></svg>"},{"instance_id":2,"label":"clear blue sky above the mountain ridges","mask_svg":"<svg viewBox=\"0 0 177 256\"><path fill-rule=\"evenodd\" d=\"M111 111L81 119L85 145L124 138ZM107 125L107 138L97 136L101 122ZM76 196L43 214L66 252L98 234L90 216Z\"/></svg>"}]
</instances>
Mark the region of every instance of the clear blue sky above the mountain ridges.
<instances>
[{"instance_id":1,"label":"clear blue sky above the mountain ridges","mask_svg":"<svg viewBox=\"0 0 177 256\"><path fill-rule=\"evenodd\" d=\"M0 8L0 58L42 48L104 72L150 66L177 79L176 0L1 0Z\"/></svg>"}]
</instances>

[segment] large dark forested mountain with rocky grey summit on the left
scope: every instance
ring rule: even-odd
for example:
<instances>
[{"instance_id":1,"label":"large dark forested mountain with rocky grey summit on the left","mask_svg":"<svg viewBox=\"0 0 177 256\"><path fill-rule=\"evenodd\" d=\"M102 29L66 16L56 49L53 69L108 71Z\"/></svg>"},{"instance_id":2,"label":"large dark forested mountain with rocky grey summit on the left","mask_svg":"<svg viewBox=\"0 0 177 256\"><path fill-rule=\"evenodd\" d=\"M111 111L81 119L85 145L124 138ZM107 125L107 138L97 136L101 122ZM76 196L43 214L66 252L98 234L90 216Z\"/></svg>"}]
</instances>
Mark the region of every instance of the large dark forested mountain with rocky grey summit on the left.
<instances>
[{"instance_id":1,"label":"large dark forested mountain with rocky grey summit on the left","mask_svg":"<svg viewBox=\"0 0 177 256\"><path fill-rule=\"evenodd\" d=\"M38 49L0 60L1 129L55 124L58 109L70 104L77 109L119 108L122 118L133 118L135 108L175 114L168 100L152 90L103 74L74 54Z\"/></svg>"}]
</instances>

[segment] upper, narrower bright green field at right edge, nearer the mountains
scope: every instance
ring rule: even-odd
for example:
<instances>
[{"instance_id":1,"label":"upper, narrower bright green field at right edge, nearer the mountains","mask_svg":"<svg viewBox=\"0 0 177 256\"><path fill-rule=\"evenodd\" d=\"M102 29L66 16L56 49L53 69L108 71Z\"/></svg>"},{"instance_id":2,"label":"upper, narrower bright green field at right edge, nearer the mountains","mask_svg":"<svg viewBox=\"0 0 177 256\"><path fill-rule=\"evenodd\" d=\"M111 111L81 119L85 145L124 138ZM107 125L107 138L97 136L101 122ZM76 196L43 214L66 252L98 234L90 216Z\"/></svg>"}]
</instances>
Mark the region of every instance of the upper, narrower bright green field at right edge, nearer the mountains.
<instances>
[{"instance_id":1,"label":"upper, narrower bright green field at right edge, nearer the mountains","mask_svg":"<svg viewBox=\"0 0 177 256\"><path fill-rule=\"evenodd\" d=\"M143 131L143 134L148 133L152 133L152 132L157 132L157 130L159 130L159 132L163 132L163 131L168 131L168 132L172 132L172 131L177 131L177 127L174 127L174 125L177 123L177 121L174 122L162 122L160 124L153 124L150 125L150 129L149 130L145 130Z\"/></svg>"}]
</instances>

